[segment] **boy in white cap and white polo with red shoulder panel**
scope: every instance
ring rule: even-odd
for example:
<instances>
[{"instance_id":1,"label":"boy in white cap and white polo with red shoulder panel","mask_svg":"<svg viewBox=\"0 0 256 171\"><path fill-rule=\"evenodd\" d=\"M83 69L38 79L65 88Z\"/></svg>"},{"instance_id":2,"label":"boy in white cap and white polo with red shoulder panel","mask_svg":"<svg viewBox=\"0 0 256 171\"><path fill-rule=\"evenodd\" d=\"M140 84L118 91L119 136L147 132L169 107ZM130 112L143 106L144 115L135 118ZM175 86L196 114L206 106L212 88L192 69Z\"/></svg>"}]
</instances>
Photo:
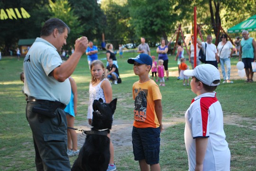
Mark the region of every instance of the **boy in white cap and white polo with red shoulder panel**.
<instances>
[{"instance_id":1,"label":"boy in white cap and white polo with red shoulder panel","mask_svg":"<svg viewBox=\"0 0 256 171\"><path fill-rule=\"evenodd\" d=\"M201 64L194 70L185 70L184 75L192 77L191 90L197 95L185 113L189 171L230 171L223 113L214 91L220 82L219 70L211 64Z\"/></svg>"}]
</instances>

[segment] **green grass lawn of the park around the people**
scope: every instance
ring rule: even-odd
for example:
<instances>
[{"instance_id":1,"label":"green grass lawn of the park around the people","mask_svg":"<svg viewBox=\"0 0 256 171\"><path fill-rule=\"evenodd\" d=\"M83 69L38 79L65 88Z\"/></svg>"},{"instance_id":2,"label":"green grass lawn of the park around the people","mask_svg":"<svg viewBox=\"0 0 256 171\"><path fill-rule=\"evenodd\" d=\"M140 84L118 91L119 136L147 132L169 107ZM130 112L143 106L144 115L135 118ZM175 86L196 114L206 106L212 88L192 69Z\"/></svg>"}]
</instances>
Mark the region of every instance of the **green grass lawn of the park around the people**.
<instances>
[{"instance_id":1,"label":"green grass lawn of the park around the people","mask_svg":"<svg viewBox=\"0 0 256 171\"><path fill-rule=\"evenodd\" d=\"M118 98L115 119L125 121L133 119L132 84L138 80L138 77L134 75L133 65L128 64L127 59L136 55L136 52L124 52L124 58L118 58L122 83L112 86L113 98ZM152 50L152 55L157 56L155 49ZM105 57L104 53L99 54L99 59L102 59L103 63L106 63ZM238 58L231 59L232 65L236 65L237 62ZM188 61L187 64L189 64ZM15 57L3 57L0 61L1 171L36 170L32 134L25 116L26 101L21 92L23 83L19 80L22 68L22 58L17 61ZM169 56L169 70L177 70L174 55ZM191 100L195 97L190 86L183 87L182 81L177 80L173 75L170 76L170 80L166 81L166 86L160 87L163 96L163 121L169 121L173 117L183 118ZM76 123L87 122L91 73L85 55L82 56L72 77L78 87ZM224 122L226 139L231 151L232 171L256 170L256 83L244 83L244 80L243 78L234 81L233 84L220 84L216 90L224 117L232 121ZM183 131L184 122L181 122L166 128L161 134L160 165L162 171L188 170ZM132 147L126 150L128 153L122 153L121 147L115 149L118 171L137 171L138 163L133 160ZM75 157L72 157L71 163L74 160Z\"/></svg>"}]
</instances>

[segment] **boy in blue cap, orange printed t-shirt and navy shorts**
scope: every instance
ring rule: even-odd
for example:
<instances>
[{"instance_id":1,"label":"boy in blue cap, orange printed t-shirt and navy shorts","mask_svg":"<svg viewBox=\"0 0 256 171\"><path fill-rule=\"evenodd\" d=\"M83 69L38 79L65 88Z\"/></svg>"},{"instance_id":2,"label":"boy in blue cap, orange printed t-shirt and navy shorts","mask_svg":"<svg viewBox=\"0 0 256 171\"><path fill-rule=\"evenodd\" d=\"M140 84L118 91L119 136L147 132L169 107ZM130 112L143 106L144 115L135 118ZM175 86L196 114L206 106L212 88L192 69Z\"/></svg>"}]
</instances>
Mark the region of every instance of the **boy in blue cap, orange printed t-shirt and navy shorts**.
<instances>
[{"instance_id":1,"label":"boy in blue cap, orange printed t-shirt and navy shorts","mask_svg":"<svg viewBox=\"0 0 256 171\"><path fill-rule=\"evenodd\" d=\"M139 81L133 84L135 100L132 144L134 159L139 161L141 171L160 171L160 132L162 125L162 95L155 81L148 77L152 67L152 58L139 54L129 58L133 71Z\"/></svg>"}]
</instances>

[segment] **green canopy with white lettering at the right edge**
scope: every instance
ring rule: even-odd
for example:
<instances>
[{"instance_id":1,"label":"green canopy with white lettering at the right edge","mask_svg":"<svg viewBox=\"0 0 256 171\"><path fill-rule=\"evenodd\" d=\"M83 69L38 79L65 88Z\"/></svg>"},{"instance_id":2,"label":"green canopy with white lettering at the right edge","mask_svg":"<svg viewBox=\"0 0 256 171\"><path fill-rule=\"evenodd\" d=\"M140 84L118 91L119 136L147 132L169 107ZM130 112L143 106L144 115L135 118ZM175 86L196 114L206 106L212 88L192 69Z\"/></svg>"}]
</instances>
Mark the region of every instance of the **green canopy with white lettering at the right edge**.
<instances>
[{"instance_id":1,"label":"green canopy with white lettering at the right edge","mask_svg":"<svg viewBox=\"0 0 256 171\"><path fill-rule=\"evenodd\" d=\"M256 31L256 15L228 29L228 33L238 33L243 30Z\"/></svg>"}]
</instances>

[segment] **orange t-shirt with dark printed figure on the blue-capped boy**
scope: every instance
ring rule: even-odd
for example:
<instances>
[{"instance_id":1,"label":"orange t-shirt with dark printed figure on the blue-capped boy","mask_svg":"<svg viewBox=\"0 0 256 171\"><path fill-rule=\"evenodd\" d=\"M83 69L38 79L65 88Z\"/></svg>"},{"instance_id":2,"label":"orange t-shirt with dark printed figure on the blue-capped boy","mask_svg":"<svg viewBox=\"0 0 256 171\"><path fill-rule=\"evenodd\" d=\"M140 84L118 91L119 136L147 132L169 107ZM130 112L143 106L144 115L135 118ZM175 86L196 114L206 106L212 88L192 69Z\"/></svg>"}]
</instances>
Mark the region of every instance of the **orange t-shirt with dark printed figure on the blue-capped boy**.
<instances>
[{"instance_id":1,"label":"orange t-shirt with dark printed figure on the blue-capped boy","mask_svg":"<svg viewBox=\"0 0 256 171\"><path fill-rule=\"evenodd\" d=\"M134 99L134 122L137 128L159 127L154 100L162 99L159 87L153 80L135 82L132 87Z\"/></svg>"}]
</instances>

